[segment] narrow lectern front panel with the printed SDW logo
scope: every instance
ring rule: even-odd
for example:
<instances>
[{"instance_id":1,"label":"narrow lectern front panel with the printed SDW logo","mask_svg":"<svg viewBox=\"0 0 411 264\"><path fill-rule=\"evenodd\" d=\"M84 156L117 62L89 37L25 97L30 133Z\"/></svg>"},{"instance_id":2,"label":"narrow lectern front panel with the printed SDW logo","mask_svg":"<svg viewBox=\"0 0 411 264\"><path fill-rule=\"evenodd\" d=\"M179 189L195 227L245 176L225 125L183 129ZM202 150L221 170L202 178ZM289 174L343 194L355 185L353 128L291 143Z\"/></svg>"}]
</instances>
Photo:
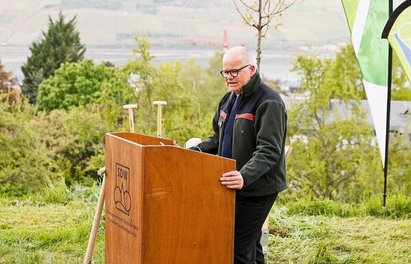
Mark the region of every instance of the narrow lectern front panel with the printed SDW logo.
<instances>
[{"instance_id":1,"label":"narrow lectern front panel with the printed SDW logo","mask_svg":"<svg viewBox=\"0 0 411 264\"><path fill-rule=\"evenodd\" d=\"M105 135L105 263L142 263L142 146Z\"/></svg>"}]
</instances>

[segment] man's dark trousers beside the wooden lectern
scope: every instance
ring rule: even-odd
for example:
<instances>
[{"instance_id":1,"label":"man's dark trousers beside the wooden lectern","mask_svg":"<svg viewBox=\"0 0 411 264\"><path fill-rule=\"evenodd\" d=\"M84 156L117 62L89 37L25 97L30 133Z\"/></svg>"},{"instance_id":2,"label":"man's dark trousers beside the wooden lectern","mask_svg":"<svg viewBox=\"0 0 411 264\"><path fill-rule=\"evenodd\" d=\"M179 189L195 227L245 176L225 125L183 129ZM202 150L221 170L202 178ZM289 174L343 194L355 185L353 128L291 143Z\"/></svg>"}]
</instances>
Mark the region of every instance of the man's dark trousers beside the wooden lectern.
<instances>
[{"instance_id":1,"label":"man's dark trousers beside the wooden lectern","mask_svg":"<svg viewBox=\"0 0 411 264\"><path fill-rule=\"evenodd\" d=\"M277 195L236 197L234 264L264 264L261 228Z\"/></svg>"}]
</instances>

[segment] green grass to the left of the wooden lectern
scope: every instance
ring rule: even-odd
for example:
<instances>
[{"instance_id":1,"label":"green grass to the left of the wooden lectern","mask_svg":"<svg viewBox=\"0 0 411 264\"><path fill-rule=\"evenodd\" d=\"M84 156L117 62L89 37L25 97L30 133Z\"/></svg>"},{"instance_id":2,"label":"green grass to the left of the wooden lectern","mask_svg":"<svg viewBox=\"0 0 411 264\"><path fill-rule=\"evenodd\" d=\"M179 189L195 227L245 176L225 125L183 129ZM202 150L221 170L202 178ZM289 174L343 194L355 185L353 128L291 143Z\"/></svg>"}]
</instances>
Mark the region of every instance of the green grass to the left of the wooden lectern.
<instances>
[{"instance_id":1,"label":"green grass to the left of the wooden lectern","mask_svg":"<svg viewBox=\"0 0 411 264\"><path fill-rule=\"evenodd\" d=\"M0 263L82 263L97 202L97 187L49 187L11 200L0 196ZM104 225L93 260L104 263Z\"/></svg>"}]
</instances>

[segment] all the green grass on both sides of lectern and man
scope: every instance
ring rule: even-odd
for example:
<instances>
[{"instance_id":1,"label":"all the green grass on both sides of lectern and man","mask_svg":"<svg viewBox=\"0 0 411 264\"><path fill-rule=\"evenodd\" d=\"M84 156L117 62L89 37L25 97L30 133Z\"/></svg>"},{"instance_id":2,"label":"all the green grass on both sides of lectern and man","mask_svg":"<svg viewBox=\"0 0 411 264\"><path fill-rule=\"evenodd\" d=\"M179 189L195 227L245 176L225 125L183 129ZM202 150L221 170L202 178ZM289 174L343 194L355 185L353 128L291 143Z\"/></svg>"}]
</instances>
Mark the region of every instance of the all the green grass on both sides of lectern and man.
<instances>
[{"instance_id":1,"label":"all the green grass on both sides of lectern and man","mask_svg":"<svg viewBox=\"0 0 411 264\"><path fill-rule=\"evenodd\" d=\"M98 190L62 182L19 200L0 194L0 263L82 263ZM268 263L410 263L411 220L397 212L410 210L410 198L401 197L386 215L371 210L373 197L280 202L270 214ZM94 263L104 263L103 223Z\"/></svg>"}]
</instances>

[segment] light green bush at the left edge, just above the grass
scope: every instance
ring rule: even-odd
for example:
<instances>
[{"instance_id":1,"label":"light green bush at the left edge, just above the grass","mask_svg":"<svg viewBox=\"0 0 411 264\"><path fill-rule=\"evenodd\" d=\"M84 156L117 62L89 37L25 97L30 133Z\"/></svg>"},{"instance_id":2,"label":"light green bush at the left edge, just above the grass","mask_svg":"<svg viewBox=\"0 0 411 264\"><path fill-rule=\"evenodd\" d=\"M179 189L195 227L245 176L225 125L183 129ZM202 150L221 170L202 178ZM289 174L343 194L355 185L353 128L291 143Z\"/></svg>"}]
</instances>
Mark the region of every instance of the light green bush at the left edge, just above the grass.
<instances>
[{"instance_id":1,"label":"light green bush at the left edge, just above the grass","mask_svg":"<svg viewBox=\"0 0 411 264\"><path fill-rule=\"evenodd\" d=\"M0 100L0 194L20 196L40 191L45 179L58 179L55 163L47 157L47 147L40 140L45 127L42 131L33 129L34 112L34 106L25 100L12 105Z\"/></svg>"}]
</instances>

